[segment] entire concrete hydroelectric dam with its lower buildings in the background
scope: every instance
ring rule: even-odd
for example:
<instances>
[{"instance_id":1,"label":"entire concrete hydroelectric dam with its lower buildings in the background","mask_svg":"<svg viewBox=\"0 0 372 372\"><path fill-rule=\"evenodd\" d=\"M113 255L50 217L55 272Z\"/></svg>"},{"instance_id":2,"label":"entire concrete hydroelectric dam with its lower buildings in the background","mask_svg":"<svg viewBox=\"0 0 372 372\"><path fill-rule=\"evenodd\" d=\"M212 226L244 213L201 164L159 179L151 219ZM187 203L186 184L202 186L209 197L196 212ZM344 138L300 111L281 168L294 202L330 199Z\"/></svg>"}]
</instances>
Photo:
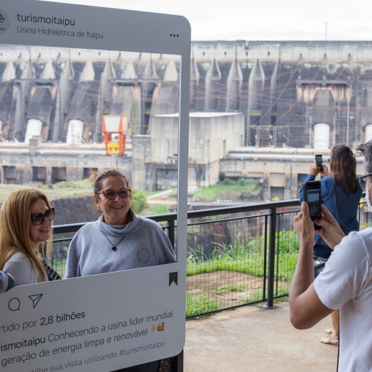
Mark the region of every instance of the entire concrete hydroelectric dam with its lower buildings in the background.
<instances>
[{"instance_id":1,"label":"entire concrete hydroelectric dam with its lower buildings in the background","mask_svg":"<svg viewBox=\"0 0 372 372\"><path fill-rule=\"evenodd\" d=\"M372 138L371 47L192 42L190 187L242 177L262 183L263 199L297 197L314 153L327 158L334 143ZM90 168L114 167L139 190L176 186L180 62L1 45L1 183L80 180ZM124 156L104 151L104 115L128 116Z\"/></svg>"}]
</instances>

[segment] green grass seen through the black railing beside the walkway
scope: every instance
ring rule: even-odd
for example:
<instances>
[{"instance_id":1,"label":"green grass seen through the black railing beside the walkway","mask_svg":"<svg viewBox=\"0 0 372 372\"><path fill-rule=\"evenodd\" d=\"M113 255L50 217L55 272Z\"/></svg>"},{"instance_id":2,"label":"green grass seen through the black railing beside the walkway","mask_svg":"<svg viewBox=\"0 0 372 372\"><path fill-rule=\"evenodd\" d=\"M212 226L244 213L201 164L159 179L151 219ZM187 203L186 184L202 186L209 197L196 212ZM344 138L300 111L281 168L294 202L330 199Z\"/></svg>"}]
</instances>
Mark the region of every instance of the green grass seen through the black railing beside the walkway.
<instances>
[{"instance_id":1,"label":"green grass seen through the black railing beside the walkway","mask_svg":"<svg viewBox=\"0 0 372 372\"><path fill-rule=\"evenodd\" d=\"M188 247L187 254L187 275L197 275L201 273L213 273L218 270L235 271L252 275L256 278L263 278L265 269L268 270L268 253L264 250L263 236L252 237L248 243L242 244L238 239L234 244L212 243L214 249L207 257L206 250L203 246L195 241L195 248ZM292 280L299 243L295 231L279 231L275 234L275 297L288 295L289 283ZM266 265L266 267L265 267ZM266 278L267 278L266 272ZM254 283L254 282L253 282ZM263 293L263 281L258 280L258 285L248 285L248 283L224 283L213 290L213 295L226 295L231 292L240 292L235 300L239 303L249 304L261 302L266 296ZM227 297L229 298L229 297ZM190 307L189 307L190 302ZM195 308L195 314L209 312L210 307L217 306L218 302L213 297L204 295L202 299L192 292L187 293L187 309ZM189 315L190 316L190 315Z\"/></svg>"}]
</instances>

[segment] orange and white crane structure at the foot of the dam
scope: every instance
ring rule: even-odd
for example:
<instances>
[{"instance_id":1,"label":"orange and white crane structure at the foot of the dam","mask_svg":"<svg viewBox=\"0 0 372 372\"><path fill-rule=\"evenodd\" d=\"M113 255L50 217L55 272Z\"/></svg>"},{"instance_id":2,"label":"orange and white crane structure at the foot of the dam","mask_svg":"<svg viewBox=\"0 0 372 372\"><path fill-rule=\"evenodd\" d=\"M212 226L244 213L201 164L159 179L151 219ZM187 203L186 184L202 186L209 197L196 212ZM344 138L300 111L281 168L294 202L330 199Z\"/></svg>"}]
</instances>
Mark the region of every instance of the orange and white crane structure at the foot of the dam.
<instances>
[{"instance_id":1,"label":"orange and white crane structure at the foot of the dam","mask_svg":"<svg viewBox=\"0 0 372 372\"><path fill-rule=\"evenodd\" d=\"M128 115L102 115L106 155L124 155L128 126Z\"/></svg>"}]
</instances>

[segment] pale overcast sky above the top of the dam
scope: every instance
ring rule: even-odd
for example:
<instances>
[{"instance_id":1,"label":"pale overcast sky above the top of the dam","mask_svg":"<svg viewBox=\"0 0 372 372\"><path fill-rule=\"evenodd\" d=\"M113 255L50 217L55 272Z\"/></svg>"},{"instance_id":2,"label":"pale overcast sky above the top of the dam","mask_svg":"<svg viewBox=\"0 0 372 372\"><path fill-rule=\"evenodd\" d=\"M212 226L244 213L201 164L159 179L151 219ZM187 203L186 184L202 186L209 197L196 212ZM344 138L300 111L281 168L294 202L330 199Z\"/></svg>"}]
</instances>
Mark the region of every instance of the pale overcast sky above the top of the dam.
<instances>
[{"instance_id":1,"label":"pale overcast sky above the top of the dam","mask_svg":"<svg viewBox=\"0 0 372 372\"><path fill-rule=\"evenodd\" d=\"M372 40L370 0L53 1L185 16L192 40Z\"/></svg>"}]
</instances>

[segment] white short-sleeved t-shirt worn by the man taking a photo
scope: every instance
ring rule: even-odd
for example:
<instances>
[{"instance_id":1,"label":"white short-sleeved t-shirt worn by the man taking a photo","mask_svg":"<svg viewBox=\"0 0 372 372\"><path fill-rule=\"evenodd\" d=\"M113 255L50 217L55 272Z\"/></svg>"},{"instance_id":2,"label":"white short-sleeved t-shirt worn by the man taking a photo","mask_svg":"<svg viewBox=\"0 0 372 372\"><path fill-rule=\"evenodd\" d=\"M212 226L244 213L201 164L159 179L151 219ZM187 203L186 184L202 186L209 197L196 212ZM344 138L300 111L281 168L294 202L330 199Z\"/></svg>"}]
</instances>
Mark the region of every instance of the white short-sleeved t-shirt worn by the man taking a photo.
<instances>
[{"instance_id":1,"label":"white short-sleeved t-shirt worn by the man taking a photo","mask_svg":"<svg viewBox=\"0 0 372 372\"><path fill-rule=\"evenodd\" d=\"M319 299L340 312L339 372L372 368L372 228L351 232L314 280Z\"/></svg>"}]
</instances>

